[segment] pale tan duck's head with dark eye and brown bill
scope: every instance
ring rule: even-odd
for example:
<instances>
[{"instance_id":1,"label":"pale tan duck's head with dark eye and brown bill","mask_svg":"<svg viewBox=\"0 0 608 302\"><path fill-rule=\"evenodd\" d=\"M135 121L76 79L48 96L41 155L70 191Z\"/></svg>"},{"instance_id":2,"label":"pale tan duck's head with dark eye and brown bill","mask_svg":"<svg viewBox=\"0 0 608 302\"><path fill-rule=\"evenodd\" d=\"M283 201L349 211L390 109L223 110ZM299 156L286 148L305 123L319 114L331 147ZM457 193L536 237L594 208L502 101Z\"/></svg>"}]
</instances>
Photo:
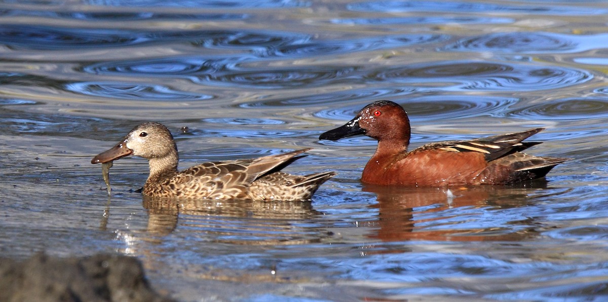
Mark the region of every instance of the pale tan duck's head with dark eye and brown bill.
<instances>
[{"instance_id":1,"label":"pale tan duck's head with dark eye and brown bill","mask_svg":"<svg viewBox=\"0 0 608 302\"><path fill-rule=\"evenodd\" d=\"M161 123L148 122L136 126L116 146L97 154L91 163L106 163L125 156L161 159L177 152L173 136Z\"/></svg>"}]
</instances>

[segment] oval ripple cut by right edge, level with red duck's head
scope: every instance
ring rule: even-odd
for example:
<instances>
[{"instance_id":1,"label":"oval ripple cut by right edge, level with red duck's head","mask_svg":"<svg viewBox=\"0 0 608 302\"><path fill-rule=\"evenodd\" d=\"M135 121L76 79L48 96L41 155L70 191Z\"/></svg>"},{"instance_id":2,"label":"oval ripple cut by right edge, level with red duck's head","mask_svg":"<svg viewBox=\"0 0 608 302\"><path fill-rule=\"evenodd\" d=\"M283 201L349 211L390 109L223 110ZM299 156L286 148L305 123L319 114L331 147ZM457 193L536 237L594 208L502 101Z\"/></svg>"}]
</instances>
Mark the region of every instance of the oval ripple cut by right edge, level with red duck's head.
<instances>
[{"instance_id":1,"label":"oval ripple cut by right edge, level with red duck's head","mask_svg":"<svg viewBox=\"0 0 608 302\"><path fill-rule=\"evenodd\" d=\"M608 98L563 98L506 111L506 117L529 120L591 120L608 117Z\"/></svg>"}]
</instances>

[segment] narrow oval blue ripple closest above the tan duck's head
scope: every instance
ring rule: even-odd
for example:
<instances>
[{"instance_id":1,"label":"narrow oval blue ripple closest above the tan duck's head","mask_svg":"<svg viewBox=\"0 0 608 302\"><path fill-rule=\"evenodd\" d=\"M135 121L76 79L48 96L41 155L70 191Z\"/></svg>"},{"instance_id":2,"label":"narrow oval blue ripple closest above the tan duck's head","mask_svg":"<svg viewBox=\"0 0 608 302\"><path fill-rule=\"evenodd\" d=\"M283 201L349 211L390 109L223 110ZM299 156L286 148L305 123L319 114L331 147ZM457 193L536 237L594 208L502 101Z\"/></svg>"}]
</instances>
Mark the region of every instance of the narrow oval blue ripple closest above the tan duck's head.
<instances>
[{"instance_id":1,"label":"narrow oval blue ripple closest above the tan duck's head","mask_svg":"<svg viewBox=\"0 0 608 302\"><path fill-rule=\"evenodd\" d=\"M77 94L92 95L95 97L123 98L125 100L208 100L213 95L196 94L193 92L174 91L160 85L130 84L130 83L102 83L80 82L66 84L67 91Z\"/></svg>"}]
</instances>

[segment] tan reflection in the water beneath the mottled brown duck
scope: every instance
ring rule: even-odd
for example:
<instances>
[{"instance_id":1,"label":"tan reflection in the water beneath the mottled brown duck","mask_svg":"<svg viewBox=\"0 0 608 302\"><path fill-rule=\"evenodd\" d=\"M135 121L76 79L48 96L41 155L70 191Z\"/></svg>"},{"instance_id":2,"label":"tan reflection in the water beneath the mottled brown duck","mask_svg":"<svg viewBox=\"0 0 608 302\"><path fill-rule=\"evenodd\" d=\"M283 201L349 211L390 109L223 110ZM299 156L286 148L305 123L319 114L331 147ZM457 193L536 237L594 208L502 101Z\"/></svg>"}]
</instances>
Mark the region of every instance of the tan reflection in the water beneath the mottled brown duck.
<instances>
[{"instance_id":1,"label":"tan reflection in the water beneath the mottled brown duck","mask_svg":"<svg viewBox=\"0 0 608 302\"><path fill-rule=\"evenodd\" d=\"M312 242L329 236L323 230L297 225L322 214L314 210L311 201L242 202L143 196L143 207L148 210L148 232L156 235L167 235L180 226L213 242L253 245Z\"/></svg>"}]
</instances>

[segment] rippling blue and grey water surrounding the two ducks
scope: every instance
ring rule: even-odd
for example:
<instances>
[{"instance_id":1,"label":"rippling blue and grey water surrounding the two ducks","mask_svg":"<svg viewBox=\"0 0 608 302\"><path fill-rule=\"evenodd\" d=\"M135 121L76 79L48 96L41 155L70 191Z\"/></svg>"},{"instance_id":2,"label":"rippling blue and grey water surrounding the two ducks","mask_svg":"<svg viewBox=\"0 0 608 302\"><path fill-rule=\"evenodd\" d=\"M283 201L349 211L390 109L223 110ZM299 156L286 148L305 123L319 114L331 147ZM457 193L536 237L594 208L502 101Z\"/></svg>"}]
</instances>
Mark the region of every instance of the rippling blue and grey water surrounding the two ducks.
<instances>
[{"instance_id":1,"label":"rippling blue and grey water surrounding the two ducks","mask_svg":"<svg viewBox=\"0 0 608 302\"><path fill-rule=\"evenodd\" d=\"M0 1L0 253L124 253L195 300L603 300L608 294L604 1ZM375 100L412 146L545 127L547 181L385 188L367 137L322 141ZM137 123L181 168L313 147L312 202L143 199ZM182 129L183 127L187 127Z\"/></svg>"}]
</instances>

